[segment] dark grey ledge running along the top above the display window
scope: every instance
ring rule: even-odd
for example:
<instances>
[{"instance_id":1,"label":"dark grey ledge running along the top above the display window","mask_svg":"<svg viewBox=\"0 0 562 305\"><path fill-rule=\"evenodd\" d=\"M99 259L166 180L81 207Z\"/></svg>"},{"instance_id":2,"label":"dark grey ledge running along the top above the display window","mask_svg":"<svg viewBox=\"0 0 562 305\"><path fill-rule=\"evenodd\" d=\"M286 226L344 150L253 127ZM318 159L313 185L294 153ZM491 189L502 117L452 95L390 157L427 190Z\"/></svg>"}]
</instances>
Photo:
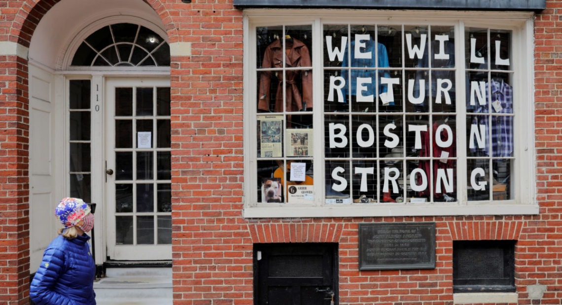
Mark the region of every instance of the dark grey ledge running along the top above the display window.
<instances>
[{"instance_id":1,"label":"dark grey ledge running along the top above the display window","mask_svg":"<svg viewBox=\"0 0 562 305\"><path fill-rule=\"evenodd\" d=\"M386 8L423 10L542 11L545 0L234 0L238 8Z\"/></svg>"}]
</instances>

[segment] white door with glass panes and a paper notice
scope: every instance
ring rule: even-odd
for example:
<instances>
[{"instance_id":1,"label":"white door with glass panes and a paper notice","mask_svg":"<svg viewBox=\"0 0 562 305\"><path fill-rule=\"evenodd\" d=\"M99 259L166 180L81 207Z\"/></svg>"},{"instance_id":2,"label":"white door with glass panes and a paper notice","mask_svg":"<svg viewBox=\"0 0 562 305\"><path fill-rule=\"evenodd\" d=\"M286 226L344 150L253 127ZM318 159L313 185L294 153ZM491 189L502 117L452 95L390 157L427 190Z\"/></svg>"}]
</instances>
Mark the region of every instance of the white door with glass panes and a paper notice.
<instances>
[{"instance_id":1,"label":"white door with glass panes and a paper notice","mask_svg":"<svg viewBox=\"0 0 562 305\"><path fill-rule=\"evenodd\" d=\"M107 255L171 260L170 81L106 80Z\"/></svg>"}]
</instances>

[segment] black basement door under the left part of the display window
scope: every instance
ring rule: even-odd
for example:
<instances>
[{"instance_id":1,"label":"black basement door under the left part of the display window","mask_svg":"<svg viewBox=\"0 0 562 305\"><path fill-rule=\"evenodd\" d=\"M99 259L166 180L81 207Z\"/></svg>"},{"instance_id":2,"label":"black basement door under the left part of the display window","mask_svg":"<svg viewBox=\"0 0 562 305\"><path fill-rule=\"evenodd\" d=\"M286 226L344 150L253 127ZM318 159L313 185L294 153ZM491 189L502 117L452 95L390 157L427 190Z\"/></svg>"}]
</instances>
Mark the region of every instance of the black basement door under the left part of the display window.
<instances>
[{"instance_id":1,"label":"black basement door under the left part of the display window","mask_svg":"<svg viewBox=\"0 0 562 305\"><path fill-rule=\"evenodd\" d=\"M255 244L256 305L337 304L335 243Z\"/></svg>"}]
</instances>

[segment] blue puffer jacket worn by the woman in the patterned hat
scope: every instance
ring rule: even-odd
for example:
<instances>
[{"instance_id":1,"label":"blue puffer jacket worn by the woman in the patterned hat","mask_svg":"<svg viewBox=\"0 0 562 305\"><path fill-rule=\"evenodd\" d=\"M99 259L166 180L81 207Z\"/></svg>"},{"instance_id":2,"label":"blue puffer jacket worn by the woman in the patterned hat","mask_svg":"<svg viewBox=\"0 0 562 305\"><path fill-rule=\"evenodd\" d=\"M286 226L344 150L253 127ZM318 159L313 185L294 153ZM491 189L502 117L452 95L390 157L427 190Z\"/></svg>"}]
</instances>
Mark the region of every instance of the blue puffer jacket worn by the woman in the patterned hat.
<instances>
[{"instance_id":1,"label":"blue puffer jacket worn by the woman in the patterned hat","mask_svg":"<svg viewBox=\"0 0 562 305\"><path fill-rule=\"evenodd\" d=\"M38 305L93 305L96 263L86 234L73 239L58 235L43 254L29 295Z\"/></svg>"}]
</instances>

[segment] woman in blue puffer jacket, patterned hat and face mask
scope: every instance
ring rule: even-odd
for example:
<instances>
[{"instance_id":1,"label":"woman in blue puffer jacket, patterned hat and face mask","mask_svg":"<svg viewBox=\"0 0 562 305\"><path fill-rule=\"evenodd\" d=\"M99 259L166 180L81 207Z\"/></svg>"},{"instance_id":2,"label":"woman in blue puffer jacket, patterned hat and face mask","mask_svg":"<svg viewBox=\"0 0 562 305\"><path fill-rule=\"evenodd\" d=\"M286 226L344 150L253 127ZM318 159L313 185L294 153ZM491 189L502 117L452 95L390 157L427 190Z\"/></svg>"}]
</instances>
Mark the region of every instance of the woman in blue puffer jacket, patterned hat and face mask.
<instances>
[{"instance_id":1,"label":"woman in blue puffer jacket, patterned hat and face mask","mask_svg":"<svg viewBox=\"0 0 562 305\"><path fill-rule=\"evenodd\" d=\"M65 226L49 244L35 273L29 295L38 305L94 305L96 263L85 234L92 230L94 215L79 198L64 198L55 215Z\"/></svg>"}]
</instances>

